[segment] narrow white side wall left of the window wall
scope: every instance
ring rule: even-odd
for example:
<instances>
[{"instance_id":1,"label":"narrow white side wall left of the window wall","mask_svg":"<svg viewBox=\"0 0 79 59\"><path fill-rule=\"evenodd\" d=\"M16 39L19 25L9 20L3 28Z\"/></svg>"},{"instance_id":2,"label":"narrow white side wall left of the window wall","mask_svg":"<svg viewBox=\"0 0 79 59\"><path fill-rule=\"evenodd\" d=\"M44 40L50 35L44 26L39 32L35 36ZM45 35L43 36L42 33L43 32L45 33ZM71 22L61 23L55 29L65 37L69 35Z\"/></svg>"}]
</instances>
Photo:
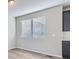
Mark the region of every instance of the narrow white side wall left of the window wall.
<instances>
[{"instance_id":1,"label":"narrow white side wall left of the window wall","mask_svg":"<svg viewBox=\"0 0 79 59\"><path fill-rule=\"evenodd\" d=\"M15 48L15 19L8 14L8 50Z\"/></svg>"}]
</instances>

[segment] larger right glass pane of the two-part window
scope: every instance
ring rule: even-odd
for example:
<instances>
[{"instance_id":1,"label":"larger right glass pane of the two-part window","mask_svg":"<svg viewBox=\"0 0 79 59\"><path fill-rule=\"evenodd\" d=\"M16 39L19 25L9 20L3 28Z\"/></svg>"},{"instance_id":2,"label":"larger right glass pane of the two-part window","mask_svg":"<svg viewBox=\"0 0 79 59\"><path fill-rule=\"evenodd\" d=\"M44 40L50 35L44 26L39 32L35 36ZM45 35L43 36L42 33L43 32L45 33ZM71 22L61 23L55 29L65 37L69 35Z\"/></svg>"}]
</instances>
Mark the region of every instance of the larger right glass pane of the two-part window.
<instances>
[{"instance_id":1,"label":"larger right glass pane of the two-part window","mask_svg":"<svg viewBox=\"0 0 79 59\"><path fill-rule=\"evenodd\" d=\"M45 17L33 18L33 38L44 37L46 34Z\"/></svg>"}]
</instances>

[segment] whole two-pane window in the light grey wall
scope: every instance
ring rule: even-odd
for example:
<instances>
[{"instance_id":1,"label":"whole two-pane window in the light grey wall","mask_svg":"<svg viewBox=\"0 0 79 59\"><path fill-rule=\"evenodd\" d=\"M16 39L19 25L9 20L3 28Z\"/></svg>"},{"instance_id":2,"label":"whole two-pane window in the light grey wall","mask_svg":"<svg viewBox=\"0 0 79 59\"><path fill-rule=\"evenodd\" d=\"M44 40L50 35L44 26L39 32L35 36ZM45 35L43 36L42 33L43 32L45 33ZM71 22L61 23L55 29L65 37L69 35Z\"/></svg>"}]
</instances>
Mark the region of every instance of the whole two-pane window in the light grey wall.
<instances>
[{"instance_id":1,"label":"whole two-pane window in the light grey wall","mask_svg":"<svg viewBox=\"0 0 79 59\"><path fill-rule=\"evenodd\" d=\"M38 38L46 35L46 19L44 16L22 20L21 24L21 37Z\"/></svg>"}]
</instances>

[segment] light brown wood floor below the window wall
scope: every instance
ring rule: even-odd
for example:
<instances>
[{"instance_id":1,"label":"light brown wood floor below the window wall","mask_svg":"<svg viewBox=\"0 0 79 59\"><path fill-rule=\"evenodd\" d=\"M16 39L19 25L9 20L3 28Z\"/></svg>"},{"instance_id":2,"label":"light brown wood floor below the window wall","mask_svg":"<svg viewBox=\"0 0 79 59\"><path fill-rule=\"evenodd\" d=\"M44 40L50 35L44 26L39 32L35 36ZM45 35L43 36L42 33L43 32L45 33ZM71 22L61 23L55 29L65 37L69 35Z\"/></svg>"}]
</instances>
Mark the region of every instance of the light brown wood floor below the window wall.
<instances>
[{"instance_id":1,"label":"light brown wood floor below the window wall","mask_svg":"<svg viewBox=\"0 0 79 59\"><path fill-rule=\"evenodd\" d=\"M8 51L8 59L63 59L63 58L48 57L46 55L25 51L22 49L12 49Z\"/></svg>"}]
</instances>

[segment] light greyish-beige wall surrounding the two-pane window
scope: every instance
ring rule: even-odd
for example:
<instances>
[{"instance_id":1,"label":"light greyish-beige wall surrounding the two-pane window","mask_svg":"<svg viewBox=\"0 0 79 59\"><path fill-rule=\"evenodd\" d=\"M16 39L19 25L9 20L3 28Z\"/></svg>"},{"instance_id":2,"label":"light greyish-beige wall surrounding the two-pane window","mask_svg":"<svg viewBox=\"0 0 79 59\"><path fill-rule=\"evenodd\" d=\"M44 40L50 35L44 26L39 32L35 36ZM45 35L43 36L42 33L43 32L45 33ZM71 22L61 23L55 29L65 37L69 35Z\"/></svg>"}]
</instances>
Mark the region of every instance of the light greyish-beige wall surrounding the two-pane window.
<instances>
[{"instance_id":1,"label":"light greyish-beige wall surrounding the two-pane window","mask_svg":"<svg viewBox=\"0 0 79 59\"><path fill-rule=\"evenodd\" d=\"M46 16L47 37L41 39L21 38L20 20L36 16ZM17 48L52 56L62 56L62 39L62 6L17 18Z\"/></svg>"}]
</instances>

